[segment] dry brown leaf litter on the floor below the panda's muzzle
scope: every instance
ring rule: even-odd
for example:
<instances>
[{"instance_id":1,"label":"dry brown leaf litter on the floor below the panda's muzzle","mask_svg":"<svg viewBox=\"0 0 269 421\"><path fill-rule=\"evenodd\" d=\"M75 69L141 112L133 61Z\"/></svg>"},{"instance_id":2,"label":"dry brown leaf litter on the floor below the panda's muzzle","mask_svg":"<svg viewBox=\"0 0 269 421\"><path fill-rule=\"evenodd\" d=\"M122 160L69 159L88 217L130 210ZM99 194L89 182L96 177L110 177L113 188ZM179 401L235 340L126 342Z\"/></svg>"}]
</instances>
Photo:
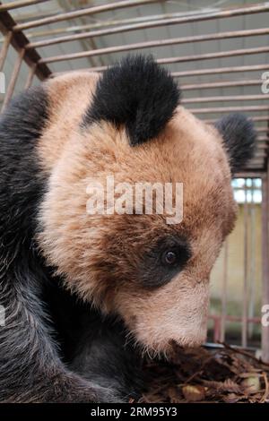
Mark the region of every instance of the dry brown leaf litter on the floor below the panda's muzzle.
<instances>
[{"instance_id":1,"label":"dry brown leaf litter on the floor below the panda's muzzle","mask_svg":"<svg viewBox=\"0 0 269 421\"><path fill-rule=\"evenodd\" d=\"M144 371L150 381L139 403L269 403L269 364L227 344L177 348L170 362L147 359Z\"/></svg>"}]
</instances>

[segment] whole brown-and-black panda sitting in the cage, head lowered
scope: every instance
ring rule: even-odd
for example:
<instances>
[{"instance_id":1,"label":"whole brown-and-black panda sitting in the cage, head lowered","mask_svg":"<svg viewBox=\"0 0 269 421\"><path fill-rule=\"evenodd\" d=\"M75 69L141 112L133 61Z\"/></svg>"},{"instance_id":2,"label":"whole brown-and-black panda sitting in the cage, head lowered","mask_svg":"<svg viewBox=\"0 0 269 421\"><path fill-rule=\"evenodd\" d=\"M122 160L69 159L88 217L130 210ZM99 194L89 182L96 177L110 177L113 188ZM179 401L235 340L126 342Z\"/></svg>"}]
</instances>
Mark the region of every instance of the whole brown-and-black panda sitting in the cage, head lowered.
<instances>
[{"instance_id":1,"label":"whole brown-and-black panda sitting in the cage, head lowered","mask_svg":"<svg viewBox=\"0 0 269 421\"><path fill-rule=\"evenodd\" d=\"M152 57L66 73L0 121L0 400L117 402L144 352L203 343L209 276L236 219L231 176L253 154L241 115L207 125ZM182 183L183 218L88 214L87 185Z\"/></svg>"}]
</instances>

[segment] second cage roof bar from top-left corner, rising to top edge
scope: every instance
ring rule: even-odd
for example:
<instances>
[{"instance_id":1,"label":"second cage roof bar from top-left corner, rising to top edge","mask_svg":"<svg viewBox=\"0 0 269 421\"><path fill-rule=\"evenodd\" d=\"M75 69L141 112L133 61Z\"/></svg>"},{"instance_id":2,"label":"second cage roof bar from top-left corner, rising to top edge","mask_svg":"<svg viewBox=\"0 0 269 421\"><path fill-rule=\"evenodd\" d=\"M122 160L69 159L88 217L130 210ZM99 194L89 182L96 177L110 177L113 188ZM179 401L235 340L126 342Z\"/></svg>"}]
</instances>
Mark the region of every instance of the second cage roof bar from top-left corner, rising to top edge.
<instances>
[{"instance_id":1,"label":"second cage roof bar from top-left corner, rising to top edge","mask_svg":"<svg viewBox=\"0 0 269 421\"><path fill-rule=\"evenodd\" d=\"M48 18L37 19L35 21L28 21L25 23L17 24L14 31L29 30L37 26L48 25L59 21L68 21L70 19L79 18L81 16L88 16L94 13L109 12L117 9L124 9L126 7L138 7L143 4L157 3L158 0L126 0L123 2L115 2L110 4L101 4L100 6L87 7L85 9L75 10L74 12L60 13L56 16L49 16ZM268 7L269 10L269 7ZM257 12L259 13L259 12Z\"/></svg>"}]
</instances>

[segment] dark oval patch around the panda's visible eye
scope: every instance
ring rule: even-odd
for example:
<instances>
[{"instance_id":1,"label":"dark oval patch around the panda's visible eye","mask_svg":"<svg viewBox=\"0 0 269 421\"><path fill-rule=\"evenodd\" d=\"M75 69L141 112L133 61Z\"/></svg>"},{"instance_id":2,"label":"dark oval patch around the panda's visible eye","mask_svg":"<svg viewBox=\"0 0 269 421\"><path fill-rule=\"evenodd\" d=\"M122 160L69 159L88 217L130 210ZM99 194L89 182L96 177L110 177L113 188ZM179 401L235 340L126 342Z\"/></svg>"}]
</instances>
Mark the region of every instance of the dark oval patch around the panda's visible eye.
<instances>
[{"instance_id":1,"label":"dark oval patch around the panda's visible eye","mask_svg":"<svg viewBox=\"0 0 269 421\"><path fill-rule=\"evenodd\" d=\"M146 288L161 287L184 269L190 257L187 240L178 236L165 236L144 253L139 267L139 279Z\"/></svg>"}]
</instances>

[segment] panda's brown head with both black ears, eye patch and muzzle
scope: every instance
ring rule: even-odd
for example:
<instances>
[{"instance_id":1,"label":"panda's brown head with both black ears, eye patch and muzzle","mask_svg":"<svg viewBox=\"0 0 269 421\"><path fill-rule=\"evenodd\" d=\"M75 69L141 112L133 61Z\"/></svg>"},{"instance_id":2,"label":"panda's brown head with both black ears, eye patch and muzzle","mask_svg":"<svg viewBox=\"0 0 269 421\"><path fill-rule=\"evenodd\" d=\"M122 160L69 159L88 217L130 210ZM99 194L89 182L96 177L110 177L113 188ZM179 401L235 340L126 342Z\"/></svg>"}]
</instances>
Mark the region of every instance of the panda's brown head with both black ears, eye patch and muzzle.
<instances>
[{"instance_id":1,"label":"panda's brown head with both black ears, eye patch and muzzle","mask_svg":"<svg viewBox=\"0 0 269 421\"><path fill-rule=\"evenodd\" d=\"M179 105L176 83L152 58L126 58L92 83L81 119L57 130L62 149L40 211L43 253L69 288L119 314L149 350L200 344L210 272L236 218L231 174L252 155L253 125L239 115L204 124ZM108 176L115 185L182 183L182 221L168 223L156 206L135 214L128 200L128 213L89 214L89 185L106 190Z\"/></svg>"}]
</instances>

